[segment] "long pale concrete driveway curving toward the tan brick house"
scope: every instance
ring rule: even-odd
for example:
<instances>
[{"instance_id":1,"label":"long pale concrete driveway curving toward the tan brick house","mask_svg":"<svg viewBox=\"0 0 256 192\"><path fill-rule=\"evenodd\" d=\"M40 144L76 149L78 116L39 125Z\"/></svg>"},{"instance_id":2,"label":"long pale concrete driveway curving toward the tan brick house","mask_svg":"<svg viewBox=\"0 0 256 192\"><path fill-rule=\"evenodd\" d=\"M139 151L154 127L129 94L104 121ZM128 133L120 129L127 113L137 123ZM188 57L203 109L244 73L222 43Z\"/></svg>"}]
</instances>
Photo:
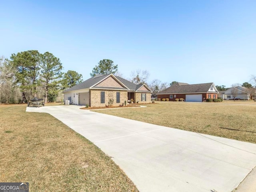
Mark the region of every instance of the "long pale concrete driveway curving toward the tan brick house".
<instances>
[{"instance_id":1,"label":"long pale concrete driveway curving toward the tan brick house","mask_svg":"<svg viewBox=\"0 0 256 192\"><path fill-rule=\"evenodd\" d=\"M112 157L140 192L231 192L256 166L256 144L80 107L30 107L26 111L49 113L86 137Z\"/></svg>"}]
</instances>

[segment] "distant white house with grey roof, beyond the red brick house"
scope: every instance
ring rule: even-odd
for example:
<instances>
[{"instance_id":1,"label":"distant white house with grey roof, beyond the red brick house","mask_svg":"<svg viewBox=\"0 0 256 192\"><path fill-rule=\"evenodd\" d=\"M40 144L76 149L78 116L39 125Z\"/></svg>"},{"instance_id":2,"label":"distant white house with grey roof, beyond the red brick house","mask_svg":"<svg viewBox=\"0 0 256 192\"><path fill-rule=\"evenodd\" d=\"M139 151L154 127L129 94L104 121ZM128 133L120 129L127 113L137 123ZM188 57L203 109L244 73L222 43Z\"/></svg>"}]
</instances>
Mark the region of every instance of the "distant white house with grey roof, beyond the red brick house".
<instances>
[{"instance_id":1,"label":"distant white house with grey roof, beyond the red brick house","mask_svg":"<svg viewBox=\"0 0 256 192\"><path fill-rule=\"evenodd\" d=\"M242 87L242 86L238 86L236 88L230 88L226 91L220 91L219 96L221 98L223 98L224 100L232 100L232 99L234 99L233 94L232 94L233 89L236 89L236 91L237 91L237 95L236 95L235 99L250 100L250 94L249 94L248 88Z\"/></svg>"}]
</instances>

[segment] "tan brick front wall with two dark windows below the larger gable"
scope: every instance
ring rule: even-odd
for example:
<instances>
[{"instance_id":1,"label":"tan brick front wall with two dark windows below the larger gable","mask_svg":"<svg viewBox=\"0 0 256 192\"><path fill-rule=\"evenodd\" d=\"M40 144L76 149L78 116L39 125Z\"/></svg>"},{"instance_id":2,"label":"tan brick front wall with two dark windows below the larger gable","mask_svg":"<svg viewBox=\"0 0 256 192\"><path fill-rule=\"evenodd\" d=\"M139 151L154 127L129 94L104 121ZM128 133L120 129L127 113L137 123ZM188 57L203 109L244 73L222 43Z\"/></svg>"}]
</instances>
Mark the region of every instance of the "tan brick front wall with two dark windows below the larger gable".
<instances>
[{"instance_id":1,"label":"tan brick front wall with two dark windows below the larger gable","mask_svg":"<svg viewBox=\"0 0 256 192\"><path fill-rule=\"evenodd\" d=\"M100 103L100 92L104 91L105 92L105 103ZM110 92L113 92L113 106L119 106L120 104L124 103L124 101L128 100L128 95L127 91L119 91L119 90L90 90L90 107L104 107L108 105L109 102L109 97L108 94ZM116 92L120 92L120 103L116 103ZM112 94L112 93L110 93Z\"/></svg>"}]
</instances>

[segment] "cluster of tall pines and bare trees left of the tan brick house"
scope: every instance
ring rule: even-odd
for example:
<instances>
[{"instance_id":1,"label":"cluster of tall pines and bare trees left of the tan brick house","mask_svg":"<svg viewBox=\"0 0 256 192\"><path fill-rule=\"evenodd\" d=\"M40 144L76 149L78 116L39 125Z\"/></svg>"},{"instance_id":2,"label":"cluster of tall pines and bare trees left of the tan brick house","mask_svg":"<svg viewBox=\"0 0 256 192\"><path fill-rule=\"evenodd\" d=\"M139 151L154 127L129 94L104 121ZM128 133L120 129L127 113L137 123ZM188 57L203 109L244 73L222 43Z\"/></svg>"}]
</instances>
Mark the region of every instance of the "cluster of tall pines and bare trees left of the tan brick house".
<instances>
[{"instance_id":1,"label":"cluster of tall pines and bare trees left of the tan brick house","mask_svg":"<svg viewBox=\"0 0 256 192\"><path fill-rule=\"evenodd\" d=\"M76 71L63 72L60 59L50 52L28 50L0 58L0 103L25 103L34 97L45 102L62 98L62 91L82 82Z\"/></svg>"}]
</instances>

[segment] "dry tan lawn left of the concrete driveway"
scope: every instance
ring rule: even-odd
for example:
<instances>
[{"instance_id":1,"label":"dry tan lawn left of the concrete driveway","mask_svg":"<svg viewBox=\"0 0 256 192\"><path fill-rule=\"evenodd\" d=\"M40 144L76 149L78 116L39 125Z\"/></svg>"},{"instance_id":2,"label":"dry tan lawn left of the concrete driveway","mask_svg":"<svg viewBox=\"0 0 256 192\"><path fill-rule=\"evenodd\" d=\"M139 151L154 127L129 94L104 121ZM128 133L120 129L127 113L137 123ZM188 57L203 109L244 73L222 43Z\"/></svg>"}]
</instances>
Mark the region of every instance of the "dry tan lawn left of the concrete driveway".
<instances>
[{"instance_id":1,"label":"dry tan lawn left of the concrete driveway","mask_svg":"<svg viewBox=\"0 0 256 192\"><path fill-rule=\"evenodd\" d=\"M48 104L46 104L48 105ZM0 105L0 181L30 192L137 192L94 144L46 113Z\"/></svg>"}]
</instances>

